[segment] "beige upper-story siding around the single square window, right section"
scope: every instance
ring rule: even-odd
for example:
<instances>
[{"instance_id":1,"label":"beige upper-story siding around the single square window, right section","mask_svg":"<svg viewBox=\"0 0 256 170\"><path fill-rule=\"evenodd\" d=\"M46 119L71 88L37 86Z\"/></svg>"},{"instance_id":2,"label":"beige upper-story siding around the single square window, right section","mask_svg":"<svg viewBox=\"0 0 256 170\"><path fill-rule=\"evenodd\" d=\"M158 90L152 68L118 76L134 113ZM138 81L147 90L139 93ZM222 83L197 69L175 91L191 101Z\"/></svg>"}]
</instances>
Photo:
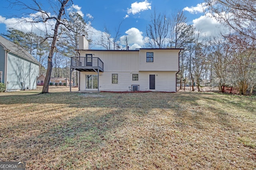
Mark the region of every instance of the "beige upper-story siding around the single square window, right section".
<instances>
[{"instance_id":1,"label":"beige upper-story siding around the single square window, right section","mask_svg":"<svg viewBox=\"0 0 256 170\"><path fill-rule=\"evenodd\" d=\"M140 71L178 71L179 70L179 53L180 50L140 50ZM152 63L146 62L146 53L153 52L154 58Z\"/></svg>"}]
</instances>

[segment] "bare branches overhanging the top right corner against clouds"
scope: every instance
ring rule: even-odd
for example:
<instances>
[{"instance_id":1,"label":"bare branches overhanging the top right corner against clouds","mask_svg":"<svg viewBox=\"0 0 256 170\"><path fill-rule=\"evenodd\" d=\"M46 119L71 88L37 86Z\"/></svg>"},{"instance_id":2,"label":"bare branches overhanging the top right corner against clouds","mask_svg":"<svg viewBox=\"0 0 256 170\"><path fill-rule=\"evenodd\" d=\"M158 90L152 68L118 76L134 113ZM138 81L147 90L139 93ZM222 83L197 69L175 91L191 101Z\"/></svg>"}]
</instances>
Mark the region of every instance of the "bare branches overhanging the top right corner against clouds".
<instances>
[{"instance_id":1,"label":"bare branches overhanging the top right corner against clouds","mask_svg":"<svg viewBox=\"0 0 256 170\"><path fill-rule=\"evenodd\" d=\"M205 0L212 16L256 40L256 0Z\"/></svg>"}]
</instances>

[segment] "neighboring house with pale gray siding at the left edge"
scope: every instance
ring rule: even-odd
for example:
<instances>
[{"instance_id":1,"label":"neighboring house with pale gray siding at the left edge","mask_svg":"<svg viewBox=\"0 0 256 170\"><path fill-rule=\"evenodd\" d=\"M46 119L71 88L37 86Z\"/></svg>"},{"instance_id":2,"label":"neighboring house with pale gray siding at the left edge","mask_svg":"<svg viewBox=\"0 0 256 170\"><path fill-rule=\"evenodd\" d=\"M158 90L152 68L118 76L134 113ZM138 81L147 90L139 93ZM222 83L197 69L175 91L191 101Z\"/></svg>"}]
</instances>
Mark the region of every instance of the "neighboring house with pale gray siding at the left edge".
<instances>
[{"instance_id":1,"label":"neighboring house with pale gray siding at the left edge","mask_svg":"<svg viewBox=\"0 0 256 170\"><path fill-rule=\"evenodd\" d=\"M0 36L0 82L6 91L36 89L40 63L25 49Z\"/></svg>"}]
</instances>

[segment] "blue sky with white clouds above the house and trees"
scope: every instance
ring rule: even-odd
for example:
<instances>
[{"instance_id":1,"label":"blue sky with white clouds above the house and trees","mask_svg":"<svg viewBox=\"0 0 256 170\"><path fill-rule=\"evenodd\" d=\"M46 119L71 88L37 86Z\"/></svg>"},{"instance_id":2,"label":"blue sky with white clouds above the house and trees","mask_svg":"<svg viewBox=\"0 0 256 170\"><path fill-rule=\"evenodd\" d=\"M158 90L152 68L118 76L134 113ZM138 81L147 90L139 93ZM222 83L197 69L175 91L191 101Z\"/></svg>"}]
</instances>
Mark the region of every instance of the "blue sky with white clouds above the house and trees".
<instances>
[{"instance_id":1,"label":"blue sky with white clouds above the house and trees","mask_svg":"<svg viewBox=\"0 0 256 170\"><path fill-rule=\"evenodd\" d=\"M13 0L12 0L13 1ZM20 0L26 4L31 4L30 0ZM58 0L37 0L42 9L46 12L52 12L51 6L58 3ZM193 24L196 30L200 30L205 36L214 36L222 29L220 23L211 18L207 8L204 7L204 0L73 0L72 8L81 16L90 18L92 21L91 33L88 37L95 43L104 32L104 25L112 35L116 33L120 25L120 41L125 46L127 37L130 49L146 48L146 26L150 24L150 15L156 10L156 13L166 14L171 17L179 10L183 10L187 17L187 24ZM66 11L69 11L67 9ZM0 33L5 33L9 27L14 27L22 31L30 31L31 24L17 24L20 17L32 18L33 13L27 12L18 6L10 5L8 0L1 0L0 6ZM44 29L44 25L37 23L33 26ZM38 33L38 32L37 32ZM102 49L99 45L92 45L92 49Z\"/></svg>"}]
</instances>

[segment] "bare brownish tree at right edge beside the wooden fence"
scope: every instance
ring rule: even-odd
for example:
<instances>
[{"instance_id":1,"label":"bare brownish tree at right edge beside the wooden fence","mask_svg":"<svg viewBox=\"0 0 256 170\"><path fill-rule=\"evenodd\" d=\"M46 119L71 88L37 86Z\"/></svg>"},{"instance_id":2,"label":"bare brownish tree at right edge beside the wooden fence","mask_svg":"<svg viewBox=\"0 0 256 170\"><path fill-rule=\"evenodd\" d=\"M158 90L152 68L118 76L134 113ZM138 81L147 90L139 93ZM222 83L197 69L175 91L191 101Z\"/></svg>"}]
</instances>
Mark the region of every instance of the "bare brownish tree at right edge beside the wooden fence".
<instances>
[{"instance_id":1,"label":"bare brownish tree at right edge beside the wooden fence","mask_svg":"<svg viewBox=\"0 0 256 170\"><path fill-rule=\"evenodd\" d=\"M238 86L240 94L246 95L248 88L256 86L256 41L240 34L227 36L230 55L230 82ZM250 89L250 92L252 92Z\"/></svg>"}]
</instances>

